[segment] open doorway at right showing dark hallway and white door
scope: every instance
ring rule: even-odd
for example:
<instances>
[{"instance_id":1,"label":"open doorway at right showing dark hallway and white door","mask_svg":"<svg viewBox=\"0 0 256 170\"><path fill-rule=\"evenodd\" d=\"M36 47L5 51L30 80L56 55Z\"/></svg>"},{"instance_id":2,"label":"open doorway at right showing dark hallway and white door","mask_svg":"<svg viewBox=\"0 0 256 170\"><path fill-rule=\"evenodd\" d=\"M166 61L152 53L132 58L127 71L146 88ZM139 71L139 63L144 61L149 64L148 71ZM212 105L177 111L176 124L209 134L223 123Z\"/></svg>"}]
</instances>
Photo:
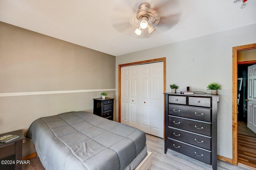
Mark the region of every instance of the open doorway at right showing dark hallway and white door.
<instances>
[{"instance_id":1,"label":"open doorway at right showing dark hallway and white door","mask_svg":"<svg viewBox=\"0 0 256 170\"><path fill-rule=\"evenodd\" d=\"M256 125L253 120L256 116L254 115L256 84L254 83L256 83L256 63L238 64L238 162L256 168Z\"/></svg>"}]
</instances>

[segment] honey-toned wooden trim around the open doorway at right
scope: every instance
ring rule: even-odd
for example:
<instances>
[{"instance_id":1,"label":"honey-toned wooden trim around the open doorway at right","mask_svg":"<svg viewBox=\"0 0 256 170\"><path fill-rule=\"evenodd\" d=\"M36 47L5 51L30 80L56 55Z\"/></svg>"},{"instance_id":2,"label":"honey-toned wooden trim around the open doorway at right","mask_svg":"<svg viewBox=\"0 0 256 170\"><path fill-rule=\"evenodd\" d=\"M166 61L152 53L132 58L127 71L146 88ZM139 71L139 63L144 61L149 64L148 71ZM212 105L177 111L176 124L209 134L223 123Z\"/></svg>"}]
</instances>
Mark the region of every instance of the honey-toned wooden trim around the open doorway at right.
<instances>
[{"instance_id":1,"label":"honey-toned wooden trim around the open doorway at right","mask_svg":"<svg viewBox=\"0 0 256 170\"><path fill-rule=\"evenodd\" d=\"M256 49L256 43L240 45L232 48L232 163L238 164L238 146L237 146L237 53L238 51ZM245 62L245 61L242 61Z\"/></svg>"}]
</instances>

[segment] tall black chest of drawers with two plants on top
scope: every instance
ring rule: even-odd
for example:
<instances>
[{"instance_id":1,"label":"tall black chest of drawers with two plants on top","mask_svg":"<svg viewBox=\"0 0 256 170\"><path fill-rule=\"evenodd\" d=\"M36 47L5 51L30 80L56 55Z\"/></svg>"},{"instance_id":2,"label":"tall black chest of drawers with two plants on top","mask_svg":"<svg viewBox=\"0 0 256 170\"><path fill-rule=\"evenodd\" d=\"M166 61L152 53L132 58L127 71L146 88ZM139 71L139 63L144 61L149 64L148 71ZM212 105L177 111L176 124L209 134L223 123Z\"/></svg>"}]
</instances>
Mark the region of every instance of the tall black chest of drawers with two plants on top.
<instances>
[{"instance_id":1,"label":"tall black chest of drawers with two plants on top","mask_svg":"<svg viewBox=\"0 0 256 170\"><path fill-rule=\"evenodd\" d=\"M167 149L212 165L217 170L217 103L219 95L165 93Z\"/></svg>"}]
</instances>

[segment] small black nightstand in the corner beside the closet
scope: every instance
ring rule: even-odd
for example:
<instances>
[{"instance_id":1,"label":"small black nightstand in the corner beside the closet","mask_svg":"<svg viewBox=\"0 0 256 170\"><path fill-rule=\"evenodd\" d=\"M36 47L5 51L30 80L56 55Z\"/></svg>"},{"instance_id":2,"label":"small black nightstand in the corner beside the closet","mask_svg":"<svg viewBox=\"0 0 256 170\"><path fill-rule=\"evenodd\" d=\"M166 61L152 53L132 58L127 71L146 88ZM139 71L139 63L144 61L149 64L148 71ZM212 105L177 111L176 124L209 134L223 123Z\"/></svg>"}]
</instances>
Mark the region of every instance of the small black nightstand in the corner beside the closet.
<instances>
[{"instance_id":1,"label":"small black nightstand in the corner beside the closet","mask_svg":"<svg viewBox=\"0 0 256 170\"><path fill-rule=\"evenodd\" d=\"M113 121L114 99L109 97L93 99L93 114Z\"/></svg>"}]
</instances>

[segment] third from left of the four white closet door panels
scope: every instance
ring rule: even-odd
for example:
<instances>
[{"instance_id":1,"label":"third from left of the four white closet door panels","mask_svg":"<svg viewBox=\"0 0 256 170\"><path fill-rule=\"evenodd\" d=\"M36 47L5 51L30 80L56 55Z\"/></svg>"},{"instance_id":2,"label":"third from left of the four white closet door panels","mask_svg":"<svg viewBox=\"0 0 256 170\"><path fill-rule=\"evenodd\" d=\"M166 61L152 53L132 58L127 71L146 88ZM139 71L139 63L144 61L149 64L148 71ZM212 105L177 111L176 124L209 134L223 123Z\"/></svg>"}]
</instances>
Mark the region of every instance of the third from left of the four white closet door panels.
<instances>
[{"instance_id":1,"label":"third from left of the four white closet door panels","mask_svg":"<svg viewBox=\"0 0 256 170\"><path fill-rule=\"evenodd\" d=\"M138 65L139 129L150 134L150 64Z\"/></svg>"}]
</instances>

